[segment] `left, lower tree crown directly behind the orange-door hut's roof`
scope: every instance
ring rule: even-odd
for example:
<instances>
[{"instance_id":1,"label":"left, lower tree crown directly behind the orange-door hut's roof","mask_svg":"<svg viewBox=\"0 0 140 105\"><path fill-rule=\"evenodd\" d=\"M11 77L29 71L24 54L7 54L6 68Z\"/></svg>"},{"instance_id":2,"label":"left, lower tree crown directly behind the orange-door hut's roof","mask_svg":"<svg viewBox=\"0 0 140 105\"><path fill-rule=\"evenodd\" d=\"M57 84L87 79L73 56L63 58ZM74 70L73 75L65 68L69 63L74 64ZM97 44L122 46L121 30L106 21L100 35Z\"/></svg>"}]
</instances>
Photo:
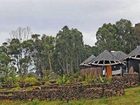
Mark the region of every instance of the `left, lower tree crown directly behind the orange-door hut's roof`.
<instances>
[{"instance_id":1,"label":"left, lower tree crown directly behind the orange-door hut's roof","mask_svg":"<svg viewBox=\"0 0 140 105\"><path fill-rule=\"evenodd\" d=\"M96 46L99 48L100 52L107 49L111 50L118 50L118 39L117 39L117 30L115 25L103 24L96 33Z\"/></svg>"}]
</instances>

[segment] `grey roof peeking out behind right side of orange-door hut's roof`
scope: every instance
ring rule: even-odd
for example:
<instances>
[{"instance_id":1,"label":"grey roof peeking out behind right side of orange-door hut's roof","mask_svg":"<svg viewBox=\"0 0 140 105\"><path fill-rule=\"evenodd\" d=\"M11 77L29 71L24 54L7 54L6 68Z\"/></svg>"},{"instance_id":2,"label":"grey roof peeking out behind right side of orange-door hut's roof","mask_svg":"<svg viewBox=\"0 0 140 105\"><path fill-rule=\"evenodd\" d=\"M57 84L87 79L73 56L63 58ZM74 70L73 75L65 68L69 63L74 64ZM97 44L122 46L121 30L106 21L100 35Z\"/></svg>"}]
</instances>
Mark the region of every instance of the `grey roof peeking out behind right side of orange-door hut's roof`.
<instances>
[{"instance_id":1,"label":"grey roof peeking out behind right side of orange-door hut's roof","mask_svg":"<svg viewBox=\"0 0 140 105\"><path fill-rule=\"evenodd\" d=\"M127 54L122 51L112 51L111 53L120 61L123 61L125 58L127 58Z\"/></svg>"}]
</instances>

